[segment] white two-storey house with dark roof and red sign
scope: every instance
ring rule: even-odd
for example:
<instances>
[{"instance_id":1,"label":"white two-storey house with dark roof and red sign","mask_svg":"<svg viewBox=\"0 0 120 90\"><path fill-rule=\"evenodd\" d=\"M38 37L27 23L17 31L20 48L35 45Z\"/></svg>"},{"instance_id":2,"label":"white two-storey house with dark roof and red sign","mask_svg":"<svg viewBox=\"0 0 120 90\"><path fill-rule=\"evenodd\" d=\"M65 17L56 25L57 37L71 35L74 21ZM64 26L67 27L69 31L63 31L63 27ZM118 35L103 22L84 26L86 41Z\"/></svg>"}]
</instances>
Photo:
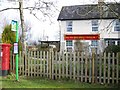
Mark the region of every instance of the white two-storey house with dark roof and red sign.
<instances>
[{"instance_id":1,"label":"white two-storey house with dark roof and red sign","mask_svg":"<svg viewBox=\"0 0 120 90\"><path fill-rule=\"evenodd\" d=\"M120 45L120 3L63 6L58 22L61 51L75 51L76 41L89 51Z\"/></svg>"}]
</instances>

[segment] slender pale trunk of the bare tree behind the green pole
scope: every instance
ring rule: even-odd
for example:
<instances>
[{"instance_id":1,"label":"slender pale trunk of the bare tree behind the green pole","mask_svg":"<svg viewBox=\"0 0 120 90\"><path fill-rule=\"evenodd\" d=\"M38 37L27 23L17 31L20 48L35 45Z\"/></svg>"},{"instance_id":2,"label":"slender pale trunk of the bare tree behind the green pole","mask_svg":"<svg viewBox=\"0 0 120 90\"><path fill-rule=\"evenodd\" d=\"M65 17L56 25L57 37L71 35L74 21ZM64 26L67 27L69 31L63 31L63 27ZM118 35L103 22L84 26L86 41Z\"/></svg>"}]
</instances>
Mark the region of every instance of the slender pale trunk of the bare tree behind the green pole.
<instances>
[{"instance_id":1,"label":"slender pale trunk of the bare tree behind the green pole","mask_svg":"<svg viewBox=\"0 0 120 90\"><path fill-rule=\"evenodd\" d=\"M19 11L20 11L20 21L22 28L22 53L25 54L26 46L25 46L25 31L24 31L24 15L23 15L23 0L19 0Z\"/></svg>"}]
</instances>

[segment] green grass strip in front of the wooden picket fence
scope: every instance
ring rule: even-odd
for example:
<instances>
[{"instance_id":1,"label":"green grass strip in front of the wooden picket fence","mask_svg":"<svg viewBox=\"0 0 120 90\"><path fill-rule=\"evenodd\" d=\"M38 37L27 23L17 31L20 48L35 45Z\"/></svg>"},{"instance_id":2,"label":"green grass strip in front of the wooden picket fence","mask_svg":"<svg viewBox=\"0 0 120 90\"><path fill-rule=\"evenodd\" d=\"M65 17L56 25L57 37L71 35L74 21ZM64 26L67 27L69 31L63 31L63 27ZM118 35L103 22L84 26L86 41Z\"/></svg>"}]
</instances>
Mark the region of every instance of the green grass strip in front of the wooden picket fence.
<instances>
[{"instance_id":1,"label":"green grass strip in front of the wooden picket fence","mask_svg":"<svg viewBox=\"0 0 120 90\"><path fill-rule=\"evenodd\" d=\"M115 88L113 85L80 83L73 80L50 80L47 78L19 77L17 82L14 75L3 77L1 81L2 88Z\"/></svg>"}]
</instances>

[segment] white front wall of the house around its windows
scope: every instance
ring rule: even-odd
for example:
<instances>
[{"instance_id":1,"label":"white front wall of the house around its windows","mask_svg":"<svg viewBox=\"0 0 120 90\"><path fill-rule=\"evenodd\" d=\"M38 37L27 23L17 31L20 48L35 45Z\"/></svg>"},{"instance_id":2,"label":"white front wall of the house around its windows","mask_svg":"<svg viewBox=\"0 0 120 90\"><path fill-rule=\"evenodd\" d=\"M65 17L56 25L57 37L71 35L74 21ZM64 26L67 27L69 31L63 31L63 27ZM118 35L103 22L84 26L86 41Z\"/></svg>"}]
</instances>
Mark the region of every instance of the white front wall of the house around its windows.
<instances>
[{"instance_id":1,"label":"white front wall of the house around its windows","mask_svg":"<svg viewBox=\"0 0 120 90\"><path fill-rule=\"evenodd\" d=\"M103 50L105 48L104 44L104 38L118 38L119 34L118 32L114 31L114 20L112 19L106 19L106 20L99 20L98 21L98 31L92 31L92 24L91 20L76 20L73 21L73 31L67 32L66 28L66 21L59 21L60 25L60 43L61 43L61 49L60 50L66 50L66 41L64 40L65 34L100 34L100 40L99 40L99 49ZM91 44L90 40L86 40L85 42L89 42L89 45ZM73 45L74 50L74 45Z\"/></svg>"}]
</instances>

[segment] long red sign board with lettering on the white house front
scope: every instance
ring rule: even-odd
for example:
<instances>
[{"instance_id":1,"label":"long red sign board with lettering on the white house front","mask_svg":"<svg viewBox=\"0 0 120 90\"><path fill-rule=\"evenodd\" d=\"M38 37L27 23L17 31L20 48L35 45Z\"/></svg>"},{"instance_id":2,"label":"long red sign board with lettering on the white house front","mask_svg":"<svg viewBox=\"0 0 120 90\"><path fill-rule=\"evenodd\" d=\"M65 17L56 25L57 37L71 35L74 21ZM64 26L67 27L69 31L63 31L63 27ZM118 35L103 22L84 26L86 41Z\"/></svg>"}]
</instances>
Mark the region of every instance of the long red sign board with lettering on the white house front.
<instances>
[{"instance_id":1,"label":"long red sign board with lettering on the white house front","mask_svg":"<svg viewBox=\"0 0 120 90\"><path fill-rule=\"evenodd\" d=\"M65 35L65 40L99 40L100 34L71 34Z\"/></svg>"}]
</instances>

